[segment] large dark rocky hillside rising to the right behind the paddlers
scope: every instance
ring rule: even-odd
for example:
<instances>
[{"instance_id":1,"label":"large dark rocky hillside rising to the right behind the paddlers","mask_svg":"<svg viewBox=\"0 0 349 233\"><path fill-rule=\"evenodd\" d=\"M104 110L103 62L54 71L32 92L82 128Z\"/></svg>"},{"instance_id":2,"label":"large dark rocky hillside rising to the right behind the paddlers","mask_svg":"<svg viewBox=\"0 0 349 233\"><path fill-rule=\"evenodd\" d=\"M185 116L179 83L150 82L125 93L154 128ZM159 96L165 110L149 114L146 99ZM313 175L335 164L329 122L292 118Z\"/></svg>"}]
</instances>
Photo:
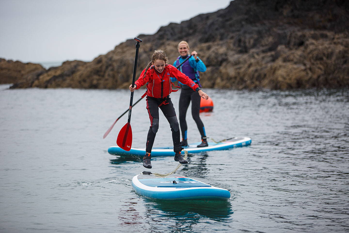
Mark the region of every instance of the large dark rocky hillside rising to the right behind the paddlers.
<instances>
[{"instance_id":1,"label":"large dark rocky hillside rising to the right behind the paddlers","mask_svg":"<svg viewBox=\"0 0 349 233\"><path fill-rule=\"evenodd\" d=\"M173 63L178 42L186 40L207 66L203 87L349 87L348 27L345 0L235 0L226 9L139 35L137 75L155 49L166 50ZM64 63L13 87L127 88L134 52L130 39L89 63Z\"/></svg>"}]
</instances>

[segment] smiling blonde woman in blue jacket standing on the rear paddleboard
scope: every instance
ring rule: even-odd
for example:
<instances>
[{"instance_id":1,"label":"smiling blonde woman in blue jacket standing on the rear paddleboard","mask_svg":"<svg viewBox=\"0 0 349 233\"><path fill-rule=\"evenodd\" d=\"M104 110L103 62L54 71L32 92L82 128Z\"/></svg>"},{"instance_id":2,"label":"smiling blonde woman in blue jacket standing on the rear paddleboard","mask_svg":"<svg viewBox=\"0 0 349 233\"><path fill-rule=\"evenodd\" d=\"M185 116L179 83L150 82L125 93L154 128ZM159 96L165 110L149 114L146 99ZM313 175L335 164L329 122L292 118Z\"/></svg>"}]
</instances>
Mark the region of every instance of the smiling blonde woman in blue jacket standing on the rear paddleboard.
<instances>
[{"instance_id":1,"label":"smiling blonde woman in blue jacket standing on the rear paddleboard","mask_svg":"<svg viewBox=\"0 0 349 233\"><path fill-rule=\"evenodd\" d=\"M178 66L181 64L188 56L189 56L189 45L186 41L181 41L178 44L178 52L180 56L177 58L176 61L174 61L173 66ZM200 60L198 57L198 53L196 51L191 52L191 57L178 68L182 73L187 75L191 80L193 80L195 83L201 87L200 84L200 72L206 71L206 66ZM171 78L171 80L174 82L177 79ZM193 91L192 88L188 87L187 85L184 85L183 83L179 82L181 86L181 92L179 97L179 124L180 129L182 132L182 141L181 146L188 146L187 142L187 122L185 120L187 110L190 104L190 101L192 101L192 116L194 121L196 122L196 125L198 126L199 132L201 134L201 144L198 145L198 147L204 147L208 146L207 144L207 138L205 133L205 127L203 126L203 123L200 119L199 112L200 112L200 95L198 95L197 92Z\"/></svg>"}]
</instances>

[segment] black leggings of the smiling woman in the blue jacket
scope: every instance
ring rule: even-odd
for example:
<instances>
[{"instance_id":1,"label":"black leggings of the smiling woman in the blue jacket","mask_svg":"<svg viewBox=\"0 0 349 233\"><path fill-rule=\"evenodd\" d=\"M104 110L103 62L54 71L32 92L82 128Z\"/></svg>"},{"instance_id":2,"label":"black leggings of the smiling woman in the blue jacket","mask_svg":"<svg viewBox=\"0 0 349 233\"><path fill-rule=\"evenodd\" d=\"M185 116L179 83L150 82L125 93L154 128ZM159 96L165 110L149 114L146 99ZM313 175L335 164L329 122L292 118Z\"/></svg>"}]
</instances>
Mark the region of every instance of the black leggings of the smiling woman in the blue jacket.
<instances>
[{"instance_id":1,"label":"black leggings of the smiling woman in the blue jacket","mask_svg":"<svg viewBox=\"0 0 349 233\"><path fill-rule=\"evenodd\" d=\"M187 110L190 104L190 101L192 101L192 116L193 119L198 126L199 132L201 134L201 137L205 137L205 128L203 126L203 123L200 119L199 113L200 113L200 95L192 90L181 88L180 97L179 97L179 123L180 123L180 130L182 131L182 138L187 139L187 122L185 120Z\"/></svg>"}]
</instances>

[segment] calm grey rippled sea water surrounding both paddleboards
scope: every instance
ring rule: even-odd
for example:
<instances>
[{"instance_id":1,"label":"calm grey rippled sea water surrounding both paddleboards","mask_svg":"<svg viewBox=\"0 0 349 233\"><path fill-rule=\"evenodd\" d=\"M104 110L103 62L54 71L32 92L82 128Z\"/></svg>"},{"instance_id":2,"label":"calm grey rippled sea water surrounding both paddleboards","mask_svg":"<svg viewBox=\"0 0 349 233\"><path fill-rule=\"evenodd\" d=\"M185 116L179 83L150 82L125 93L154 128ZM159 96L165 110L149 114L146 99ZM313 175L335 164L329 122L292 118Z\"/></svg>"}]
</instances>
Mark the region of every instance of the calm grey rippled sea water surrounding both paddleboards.
<instances>
[{"instance_id":1,"label":"calm grey rippled sea water surrounding both paddleboards","mask_svg":"<svg viewBox=\"0 0 349 233\"><path fill-rule=\"evenodd\" d=\"M231 193L228 202L155 201L137 195L139 159L107 153L128 108L127 90L14 89L0 85L0 232L349 232L348 90L206 89L208 137L251 146L192 154L177 174ZM136 91L134 100L143 94ZM171 94L178 112L179 93ZM189 142L200 135L189 113ZM145 101L132 111L145 147ZM171 145L161 115L156 146ZM157 157L153 172L170 172Z\"/></svg>"}]
</instances>

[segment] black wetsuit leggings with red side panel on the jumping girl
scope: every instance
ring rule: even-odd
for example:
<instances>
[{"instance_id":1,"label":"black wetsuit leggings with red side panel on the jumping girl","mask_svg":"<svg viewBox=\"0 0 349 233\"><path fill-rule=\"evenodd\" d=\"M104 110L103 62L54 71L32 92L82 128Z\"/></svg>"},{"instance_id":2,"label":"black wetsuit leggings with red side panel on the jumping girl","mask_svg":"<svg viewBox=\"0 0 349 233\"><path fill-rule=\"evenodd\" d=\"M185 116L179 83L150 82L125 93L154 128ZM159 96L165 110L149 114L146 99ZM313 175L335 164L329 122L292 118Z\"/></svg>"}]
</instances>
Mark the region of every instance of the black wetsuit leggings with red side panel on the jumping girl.
<instances>
[{"instance_id":1,"label":"black wetsuit leggings with red side panel on the jumping girl","mask_svg":"<svg viewBox=\"0 0 349 233\"><path fill-rule=\"evenodd\" d=\"M151 153L151 148L153 148L156 132L159 129L159 109L161 109L166 119L170 123L171 131L172 131L172 140L173 140L173 151L180 152L181 146L180 146L180 140L179 140L180 139L179 124L177 121L176 112L174 111L171 98L168 96L166 98L156 99L156 98L147 96L146 101L147 101L147 110L148 110L149 119L150 119L150 128L147 136L146 152Z\"/></svg>"}]
</instances>

